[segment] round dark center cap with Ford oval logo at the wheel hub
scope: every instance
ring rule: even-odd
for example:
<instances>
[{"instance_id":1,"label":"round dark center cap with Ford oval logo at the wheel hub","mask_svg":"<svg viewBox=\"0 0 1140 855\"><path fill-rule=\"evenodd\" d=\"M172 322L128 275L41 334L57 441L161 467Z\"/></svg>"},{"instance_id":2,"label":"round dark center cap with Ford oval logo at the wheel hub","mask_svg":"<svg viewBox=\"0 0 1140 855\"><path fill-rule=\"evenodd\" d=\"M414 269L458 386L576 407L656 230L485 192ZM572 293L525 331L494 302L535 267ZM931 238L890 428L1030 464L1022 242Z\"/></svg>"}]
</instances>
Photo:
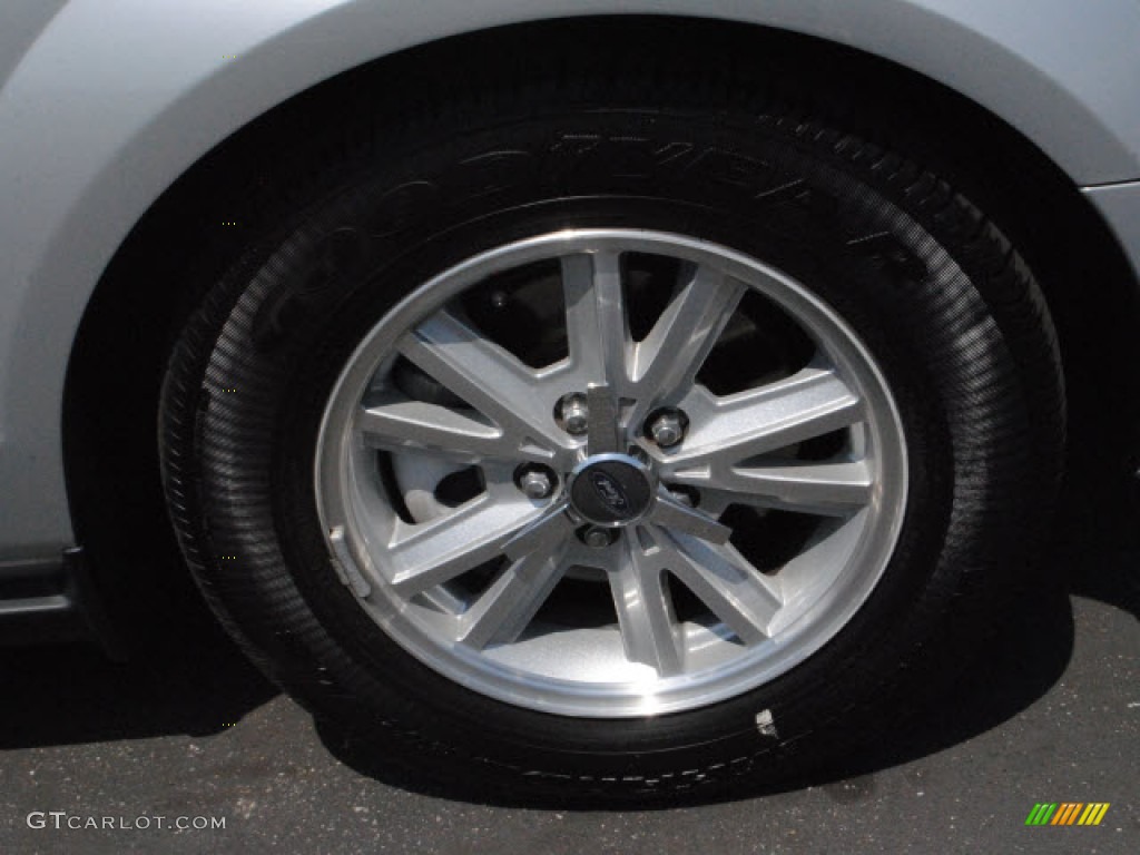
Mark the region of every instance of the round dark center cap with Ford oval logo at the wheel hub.
<instances>
[{"instance_id":1,"label":"round dark center cap with Ford oval logo at the wheel hub","mask_svg":"<svg viewBox=\"0 0 1140 855\"><path fill-rule=\"evenodd\" d=\"M649 466L625 454L587 457L570 473L570 505L587 522L605 528L642 519L653 502L656 479Z\"/></svg>"}]
</instances>

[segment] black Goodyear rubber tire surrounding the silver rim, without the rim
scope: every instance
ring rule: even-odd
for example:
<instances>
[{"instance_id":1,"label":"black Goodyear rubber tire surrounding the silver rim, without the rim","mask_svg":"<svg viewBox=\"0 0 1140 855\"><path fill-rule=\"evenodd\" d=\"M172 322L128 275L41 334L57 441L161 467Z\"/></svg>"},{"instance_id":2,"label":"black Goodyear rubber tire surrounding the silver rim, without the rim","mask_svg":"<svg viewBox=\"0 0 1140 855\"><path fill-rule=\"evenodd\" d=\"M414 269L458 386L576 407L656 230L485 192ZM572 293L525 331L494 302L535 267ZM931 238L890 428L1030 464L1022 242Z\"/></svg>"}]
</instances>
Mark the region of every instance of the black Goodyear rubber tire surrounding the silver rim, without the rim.
<instances>
[{"instance_id":1,"label":"black Goodyear rubber tire surrounding the silver rim, without the rim","mask_svg":"<svg viewBox=\"0 0 1140 855\"><path fill-rule=\"evenodd\" d=\"M299 141L259 168L288 193L249 212L244 254L171 356L163 477L210 604L317 715L414 744L437 774L633 793L807 768L978 649L1048 519L1058 351L997 227L902 154L699 83L552 76ZM576 225L679 231L788 271L863 336L901 410L907 510L873 595L807 661L710 707L579 719L467 691L364 614L315 512L316 431L372 325L465 258Z\"/></svg>"}]
</instances>

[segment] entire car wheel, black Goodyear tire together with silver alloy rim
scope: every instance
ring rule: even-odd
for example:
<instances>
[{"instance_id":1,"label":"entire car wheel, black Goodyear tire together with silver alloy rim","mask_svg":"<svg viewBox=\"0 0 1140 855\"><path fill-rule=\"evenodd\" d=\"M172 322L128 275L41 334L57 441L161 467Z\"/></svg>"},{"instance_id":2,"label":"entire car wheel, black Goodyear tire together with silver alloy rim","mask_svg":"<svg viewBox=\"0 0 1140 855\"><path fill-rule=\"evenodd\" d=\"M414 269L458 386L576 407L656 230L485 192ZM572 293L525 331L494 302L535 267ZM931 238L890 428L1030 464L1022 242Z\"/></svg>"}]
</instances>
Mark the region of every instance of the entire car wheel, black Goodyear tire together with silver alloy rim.
<instances>
[{"instance_id":1,"label":"entire car wheel, black Goodyear tire together with silver alloy rim","mask_svg":"<svg viewBox=\"0 0 1140 855\"><path fill-rule=\"evenodd\" d=\"M446 774L675 791L807 768L984 645L1064 398L969 201L742 84L350 124L258 165L288 190L161 404L182 551L282 685Z\"/></svg>"}]
</instances>

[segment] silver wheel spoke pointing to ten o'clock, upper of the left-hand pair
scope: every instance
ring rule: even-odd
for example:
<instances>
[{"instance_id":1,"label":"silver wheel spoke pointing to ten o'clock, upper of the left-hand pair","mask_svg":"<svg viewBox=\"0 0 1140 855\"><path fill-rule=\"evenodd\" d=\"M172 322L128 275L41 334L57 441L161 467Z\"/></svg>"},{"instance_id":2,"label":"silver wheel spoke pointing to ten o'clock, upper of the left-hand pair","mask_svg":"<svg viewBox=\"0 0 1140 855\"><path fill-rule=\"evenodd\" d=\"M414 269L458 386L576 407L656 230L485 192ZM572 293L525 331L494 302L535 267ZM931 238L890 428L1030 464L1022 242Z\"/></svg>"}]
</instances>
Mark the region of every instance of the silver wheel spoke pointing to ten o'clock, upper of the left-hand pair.
<instances>
[{"instance_id":1,"label":"silver wheel spoke pointing to ten o'clock, upper of the left-hand pair","mask_svg":"<svg viewBox=\"0 0 1140 855\"><path fill-rule=\"evenodd\" d=\"M504 443L538 446L552 455L570 447L554 423L540 376L448 311L406 335L400 353L491 420Z\"/></svg>"}]
</instances>

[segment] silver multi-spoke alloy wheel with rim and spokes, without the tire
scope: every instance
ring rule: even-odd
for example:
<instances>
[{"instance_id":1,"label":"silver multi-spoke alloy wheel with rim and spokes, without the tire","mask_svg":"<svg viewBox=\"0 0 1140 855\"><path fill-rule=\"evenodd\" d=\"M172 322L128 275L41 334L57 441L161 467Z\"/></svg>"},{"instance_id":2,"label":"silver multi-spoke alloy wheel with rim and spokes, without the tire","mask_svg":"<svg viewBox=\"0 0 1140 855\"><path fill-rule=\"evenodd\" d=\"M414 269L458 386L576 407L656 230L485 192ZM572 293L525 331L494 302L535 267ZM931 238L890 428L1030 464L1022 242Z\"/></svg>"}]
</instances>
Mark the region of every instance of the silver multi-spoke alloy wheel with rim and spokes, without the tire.
<instances>
[{"instance_id":1,"label":"silver multi-spoke alloy wheel with rim and spokes, without the tire","mask_svg":"<svg viewBox=\"0 0 1140 855\"><path fill-rule=\"evenodd\" d=\"M634 256L676 262L641 336ZM472 321L462 295L540 263L555 266L565 352L534 365ZM785 376L714 393L702 366L749 294L813 352ZM401 385L408 366L432 394ZM585 399L585 433L560 421L568 396ZM651 424L666 410L684 433L671 442L669 421L661 445ZM899 416L847 324L755 259L657 231L548 234L422 285L349 359L318 442L317 508L367 614L450 679L569 716L694 709L804 661L873 591L906 503ZM554 483L542 498L521 481L536 471ZM613 511L610 537L589 535L600 512L575 489L584 475ZM441 498L457 479L462 500ZM746 549L741 514L773 544L806 534L790 553ZM559 608L556 587L570 591Z\"/></svg>"}]
</instances>

